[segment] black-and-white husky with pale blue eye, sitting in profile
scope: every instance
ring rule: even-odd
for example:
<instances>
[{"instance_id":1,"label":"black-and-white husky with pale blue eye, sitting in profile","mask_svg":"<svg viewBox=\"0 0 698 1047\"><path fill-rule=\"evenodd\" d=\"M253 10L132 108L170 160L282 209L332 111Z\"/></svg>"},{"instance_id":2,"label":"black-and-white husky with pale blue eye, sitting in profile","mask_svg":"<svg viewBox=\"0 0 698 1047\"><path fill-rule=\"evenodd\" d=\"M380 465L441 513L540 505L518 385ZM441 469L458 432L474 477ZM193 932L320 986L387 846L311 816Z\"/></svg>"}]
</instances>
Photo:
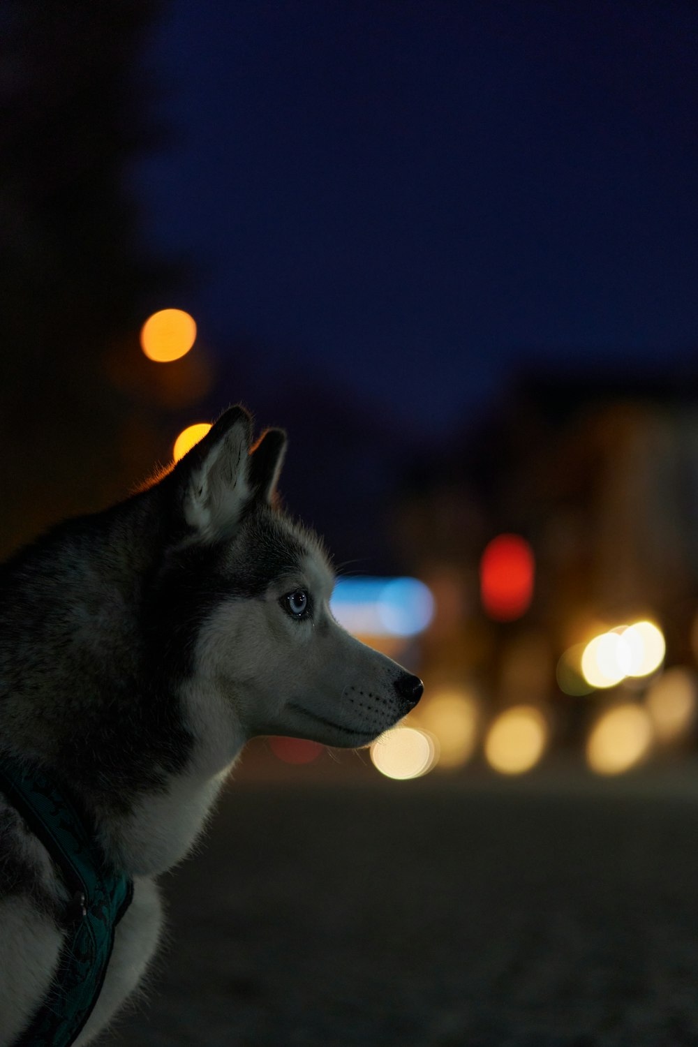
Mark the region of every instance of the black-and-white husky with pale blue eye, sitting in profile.
<instances>
[{"instance_id":1,"label":"black-and-white husky with pale blue eye, sitting in profile","mask_svg":"<svg viewBox=\"0 0 698 1047\"><path fill-rule=\"evenodd\" d=\"M155 877L190 850L248 738L365 745L422 694L334 620L322 545L276 503L285 446L280 429L252 446L231 407L150 487L0 569L0 767L49 775L133 885L96 1002L48 1043L90 1043L140 981L160 934ZM55 982L71 906L0 786L3 1047L26 1042Z\"/></svg>"}]
</instances>

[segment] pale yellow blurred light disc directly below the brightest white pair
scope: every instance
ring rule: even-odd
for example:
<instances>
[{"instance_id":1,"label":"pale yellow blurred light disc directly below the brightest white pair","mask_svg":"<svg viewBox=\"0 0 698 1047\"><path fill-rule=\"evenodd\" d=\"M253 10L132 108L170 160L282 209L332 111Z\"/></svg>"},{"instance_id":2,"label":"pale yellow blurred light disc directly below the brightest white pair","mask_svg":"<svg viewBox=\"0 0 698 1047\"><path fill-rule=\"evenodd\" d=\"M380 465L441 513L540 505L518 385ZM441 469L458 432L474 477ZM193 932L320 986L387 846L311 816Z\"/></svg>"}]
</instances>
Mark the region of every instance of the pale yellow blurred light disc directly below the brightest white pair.
<instances>
[{"instance_id":1,"label":"pale yellow blurred light disc directly below the brightest white pair","mask_svg":"<svg viewBox=\"0 0 698 1047\"><path fill-rule=\"evenodd\" d=\"M652 744L652 720L636 705L615 706L594 723L586 745L586 758L600 775L620 775L643 760Z\"/></svg>"}]
</instances>

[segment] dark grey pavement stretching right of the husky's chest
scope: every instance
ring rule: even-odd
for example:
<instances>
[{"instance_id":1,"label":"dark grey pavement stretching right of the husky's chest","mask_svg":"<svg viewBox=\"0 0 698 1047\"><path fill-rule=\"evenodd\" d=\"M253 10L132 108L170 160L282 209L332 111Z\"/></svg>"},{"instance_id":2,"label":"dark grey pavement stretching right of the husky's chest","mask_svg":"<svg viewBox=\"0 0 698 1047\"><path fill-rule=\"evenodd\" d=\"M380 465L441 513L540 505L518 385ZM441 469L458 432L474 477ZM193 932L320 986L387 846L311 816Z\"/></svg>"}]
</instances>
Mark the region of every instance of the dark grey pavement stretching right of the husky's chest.
<instances>
[{"instance_id":1,"label":"dark grey pavement stretching right of the husky's chest","mask_svg":"<svg viewBox=\"0 0 698 1047\"><path fill-rule=\"evenodd\" d=\"M233 782L100 1047L698 1044L698 768Z\"/></svg>"}]
</instances>

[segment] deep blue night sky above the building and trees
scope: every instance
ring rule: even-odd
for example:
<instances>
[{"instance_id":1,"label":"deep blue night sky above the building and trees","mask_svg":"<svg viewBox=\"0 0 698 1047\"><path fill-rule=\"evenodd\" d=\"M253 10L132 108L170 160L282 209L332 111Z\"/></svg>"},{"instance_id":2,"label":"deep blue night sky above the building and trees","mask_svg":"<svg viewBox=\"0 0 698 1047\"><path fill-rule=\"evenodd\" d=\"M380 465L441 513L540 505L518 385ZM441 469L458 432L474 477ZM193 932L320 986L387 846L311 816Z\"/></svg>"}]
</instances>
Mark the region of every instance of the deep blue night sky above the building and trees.
<instances>
[{"instance_id":1,"label":"deep blue night sky above the building and trees","mask_svg":"<svg viewBox=\"0 0 698 1047\"><path fill-rule=\"evenodd\" d=\"M671 0L176 0L135 179L201 279L163 305L441 433L532 360L684 365L697 48Z\"/></svg>"}]
</instances>

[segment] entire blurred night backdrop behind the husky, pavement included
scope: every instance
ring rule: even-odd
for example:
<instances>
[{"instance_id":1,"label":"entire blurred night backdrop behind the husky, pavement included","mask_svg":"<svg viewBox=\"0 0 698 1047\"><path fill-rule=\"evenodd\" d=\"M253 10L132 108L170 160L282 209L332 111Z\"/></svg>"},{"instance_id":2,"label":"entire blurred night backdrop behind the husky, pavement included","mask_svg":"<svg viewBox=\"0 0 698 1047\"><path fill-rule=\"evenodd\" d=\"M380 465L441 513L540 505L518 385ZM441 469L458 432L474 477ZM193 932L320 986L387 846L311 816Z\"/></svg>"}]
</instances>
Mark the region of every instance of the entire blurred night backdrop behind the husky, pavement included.
<instances>
[{"instance_id":1,"label":"entire blurred night backdrop behind the husky, pavement included","mask_svg":"<svg viewBox=\"0 0 698 1047\"><path fill-rule=\"evenodd\" d=\"M247 747L105 1047L698 1042L697 48L695 0L0 4L0 554L242 401L426 685Z\"/></svg>"}]
</instances>

